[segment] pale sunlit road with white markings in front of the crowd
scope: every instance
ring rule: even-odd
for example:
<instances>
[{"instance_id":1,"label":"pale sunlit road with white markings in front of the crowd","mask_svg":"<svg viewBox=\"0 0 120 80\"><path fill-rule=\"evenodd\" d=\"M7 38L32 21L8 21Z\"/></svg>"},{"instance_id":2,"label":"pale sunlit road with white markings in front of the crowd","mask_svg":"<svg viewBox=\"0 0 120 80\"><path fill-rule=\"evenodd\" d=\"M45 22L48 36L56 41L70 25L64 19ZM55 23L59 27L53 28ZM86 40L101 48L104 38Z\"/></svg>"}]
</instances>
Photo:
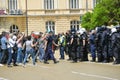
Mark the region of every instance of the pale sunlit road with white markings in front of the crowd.
<instances>
[{"instance_id":1,"label":"pale sunlit road with white markings in front of the crowd","mask_svg":"<svg viewBox=\"0 0 120 80\"><path fill-rule=\"evenodd\" d=\"M56 56L58 58L58 55ZM120 80L120 65L112 63L79 62L60 60L58 64L38 62L8 68L0 67L0 80Z\"/></svg>"}]
</instances>

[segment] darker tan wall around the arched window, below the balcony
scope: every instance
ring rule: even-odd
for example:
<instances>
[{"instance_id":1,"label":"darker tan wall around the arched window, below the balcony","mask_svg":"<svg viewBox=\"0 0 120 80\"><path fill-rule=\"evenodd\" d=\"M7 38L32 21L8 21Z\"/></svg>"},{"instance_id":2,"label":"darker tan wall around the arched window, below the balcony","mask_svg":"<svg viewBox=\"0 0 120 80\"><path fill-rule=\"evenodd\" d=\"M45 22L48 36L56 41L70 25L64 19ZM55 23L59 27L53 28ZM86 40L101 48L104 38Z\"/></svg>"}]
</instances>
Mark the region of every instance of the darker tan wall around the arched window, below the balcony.
<instances>
[{"instance_id":1,"label":"darker tan wall around the arched window, below the balcony","mask_svg":"<svg viewBox=\"0 0 120 80\"><path fill-rule=\"evenodd\" d=\"M24 17L4 17L1 18L1 24L0 24L0 33L2 31L10 31L10 27L12 25L18 26L20 32L25 32L26 24L25 24L25 18Z\"/></svg>"}]
</instances>

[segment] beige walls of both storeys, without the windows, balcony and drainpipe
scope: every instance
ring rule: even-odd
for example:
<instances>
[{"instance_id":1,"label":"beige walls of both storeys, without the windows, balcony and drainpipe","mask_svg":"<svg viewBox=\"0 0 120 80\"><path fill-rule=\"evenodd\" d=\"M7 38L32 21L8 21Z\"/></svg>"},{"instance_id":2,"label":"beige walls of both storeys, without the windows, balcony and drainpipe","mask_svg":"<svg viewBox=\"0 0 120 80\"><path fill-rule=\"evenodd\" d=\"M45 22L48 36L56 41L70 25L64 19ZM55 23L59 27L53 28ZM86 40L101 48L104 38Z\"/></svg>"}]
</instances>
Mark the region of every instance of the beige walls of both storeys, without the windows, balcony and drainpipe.
<instances>
[{"instance_id":1,"label":"beige walls of both storeys, without the windows, balcony and drainpipe","mask_svg":"<svg viewBox=\"0 0 120 80\"><path fill-rule=\"evenodd\" d=\"M18 9L23 15L9 15L8 0L0 0L0 9L6 9L7 15L0 15L0 31L9 31L11 25L17 25L21 32L26 31L26 0L17 0ZM45 10L44 0L27 0L28 32L46 31L47 21L55 22L55 33L70 29L70 21L80 21L80 16L86 13L86 0L79 0L79 9L69 9L69 0L54 0L54 9ZM88 0L88 11L93 10L93 0Z\"/></svg>"}]
</instances>

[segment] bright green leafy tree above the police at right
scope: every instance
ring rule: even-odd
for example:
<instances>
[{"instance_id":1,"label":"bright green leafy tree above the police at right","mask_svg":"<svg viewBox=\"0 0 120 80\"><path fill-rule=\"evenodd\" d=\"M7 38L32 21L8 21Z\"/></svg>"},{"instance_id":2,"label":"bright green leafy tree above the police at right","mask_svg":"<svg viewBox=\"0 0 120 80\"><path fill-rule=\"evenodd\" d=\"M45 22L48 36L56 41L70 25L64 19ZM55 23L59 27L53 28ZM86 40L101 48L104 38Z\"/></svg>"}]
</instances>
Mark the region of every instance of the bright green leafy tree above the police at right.
<instances>
[{"instance_id":1,"label":"bright green leafy tree above the police at right","mask_svg":"<svg viewBox=\"0 0 120 80\"><path fill-rule=\"evenodd\" d=\"M120 0L98 0L93 13L86 13L82 18L82 27L90 30L101 25L120 22Z\"/></svg>"}]
</instances>

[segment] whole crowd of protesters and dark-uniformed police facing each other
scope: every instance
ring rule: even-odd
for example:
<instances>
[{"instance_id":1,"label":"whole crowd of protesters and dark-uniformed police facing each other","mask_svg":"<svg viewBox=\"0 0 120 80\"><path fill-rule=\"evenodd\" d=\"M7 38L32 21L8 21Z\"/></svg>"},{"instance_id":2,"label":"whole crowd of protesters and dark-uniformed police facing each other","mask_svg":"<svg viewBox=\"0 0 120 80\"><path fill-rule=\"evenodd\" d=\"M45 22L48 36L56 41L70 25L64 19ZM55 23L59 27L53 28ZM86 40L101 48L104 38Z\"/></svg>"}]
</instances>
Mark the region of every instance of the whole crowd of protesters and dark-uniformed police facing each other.
<instances>
[{"instance_id":1,"label":"whole crowd of protesters and dark-uniformed police facing each other","mask_svg":"<svg viewBox=\"0 0 120 80\"><path fill-rule=\"evenodd\" d=\"M97 27L90 32L84 28L72 29L58 35L52 31L31 32L29 36L3 31L0 35L0 66L25 67L31 58L33 65L37 60L45 64L53 60L56 64L59 62L54 56L57 49L60 51L60 60L68 55L68 61L73 63L89 61L90 53L92 62L120 64L120 26L112 29Z\"/></svg>"}]
</instances>

